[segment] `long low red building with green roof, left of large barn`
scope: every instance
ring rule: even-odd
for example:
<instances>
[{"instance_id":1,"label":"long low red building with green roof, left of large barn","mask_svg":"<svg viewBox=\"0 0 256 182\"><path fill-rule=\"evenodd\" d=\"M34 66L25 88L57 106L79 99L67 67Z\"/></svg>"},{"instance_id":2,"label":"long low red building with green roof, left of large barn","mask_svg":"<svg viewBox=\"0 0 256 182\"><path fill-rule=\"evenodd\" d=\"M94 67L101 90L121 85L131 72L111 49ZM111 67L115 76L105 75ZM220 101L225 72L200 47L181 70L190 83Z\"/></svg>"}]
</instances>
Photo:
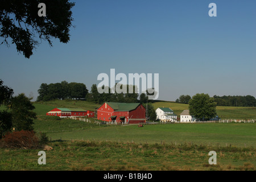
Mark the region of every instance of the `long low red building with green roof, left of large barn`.
<instances>
[{"instance_id":1,"label":"long low red building with green roof, left of large barn","mask_svg":"<svg viewBox=\"0 0 256 182\"><path fill-rule=\"evenodd\" d=\"M77 108L55 108L46 115L56 115L61 118L66 118L66 117L94 117L94 112L89 111L89 110L84 110L84 109L77 109Z\"/></svg>"}]
</instances>

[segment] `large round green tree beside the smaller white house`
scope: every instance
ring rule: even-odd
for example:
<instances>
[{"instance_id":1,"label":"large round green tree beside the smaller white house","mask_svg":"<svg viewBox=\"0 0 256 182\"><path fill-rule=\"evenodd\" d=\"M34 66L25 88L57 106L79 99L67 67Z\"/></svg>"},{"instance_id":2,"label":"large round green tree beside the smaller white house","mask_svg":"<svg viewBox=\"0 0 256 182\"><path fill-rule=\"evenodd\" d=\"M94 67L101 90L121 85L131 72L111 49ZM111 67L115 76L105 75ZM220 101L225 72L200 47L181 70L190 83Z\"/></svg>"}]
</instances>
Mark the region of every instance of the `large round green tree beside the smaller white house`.
<instances>
[{"instance_id":1,"label":"large round green tree beside the smaller white house","mask_svg":"<svg viewBox=\"0 0 256 182\"><path fill-rule=\"evenodd\" d=\"M197 93L189 101L189 114L200 120L216 117L216 102L209 94Z\"/></svg>"}]
</instances>

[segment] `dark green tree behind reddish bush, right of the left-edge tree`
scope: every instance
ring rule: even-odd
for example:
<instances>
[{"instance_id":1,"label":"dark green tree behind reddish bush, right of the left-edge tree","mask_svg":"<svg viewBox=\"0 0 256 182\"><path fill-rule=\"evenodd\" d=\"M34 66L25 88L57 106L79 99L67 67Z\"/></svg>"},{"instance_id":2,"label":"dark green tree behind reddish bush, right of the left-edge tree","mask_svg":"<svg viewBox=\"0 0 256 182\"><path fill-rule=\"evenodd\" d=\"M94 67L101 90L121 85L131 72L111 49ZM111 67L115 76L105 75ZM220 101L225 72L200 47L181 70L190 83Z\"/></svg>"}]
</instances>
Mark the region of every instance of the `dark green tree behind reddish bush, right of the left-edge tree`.
<instances>
[{"instance_id":1,"label":"dark green tree behind reddish bush, right of the left-edge tree","mask_svg":"<svg viewBox=\"0 0 256 182\"><path fill-rule=\"evenodd\" d=\"M11 99L11 114L13 115L13 127L15 130L32 131L33 120L36 119L35 107L24 93Z\"/></svg>"}]
</instances>

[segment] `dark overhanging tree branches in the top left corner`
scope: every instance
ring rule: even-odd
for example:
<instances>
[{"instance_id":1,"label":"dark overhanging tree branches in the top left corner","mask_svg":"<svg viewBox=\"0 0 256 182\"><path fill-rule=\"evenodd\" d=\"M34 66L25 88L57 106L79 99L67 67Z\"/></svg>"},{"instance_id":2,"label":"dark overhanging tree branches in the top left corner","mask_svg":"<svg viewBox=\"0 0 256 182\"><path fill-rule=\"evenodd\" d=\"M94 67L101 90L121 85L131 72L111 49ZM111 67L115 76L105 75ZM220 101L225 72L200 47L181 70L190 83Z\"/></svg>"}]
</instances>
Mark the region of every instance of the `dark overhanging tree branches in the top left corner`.
<instances>
[{"instance_id":1,"label":"dark overhanging tree branches in the top left corner","mask_svg":"<svg viewBox=\"0 0 256 182\"><path fill-rule=\"evenodd\" d=\"M44 0L46 16L38 15L39 0L2 0L0 6L0 37L9 46L16 45L18 52L30 58L33 49L38 46L36 39L47 40L52 46L51 39L59 39L61 43L68 43L69 28L72 26L72 7L75 3L69 0ZM38 38L36 38L38 35Z\"/></svg>"}]
</instances>

